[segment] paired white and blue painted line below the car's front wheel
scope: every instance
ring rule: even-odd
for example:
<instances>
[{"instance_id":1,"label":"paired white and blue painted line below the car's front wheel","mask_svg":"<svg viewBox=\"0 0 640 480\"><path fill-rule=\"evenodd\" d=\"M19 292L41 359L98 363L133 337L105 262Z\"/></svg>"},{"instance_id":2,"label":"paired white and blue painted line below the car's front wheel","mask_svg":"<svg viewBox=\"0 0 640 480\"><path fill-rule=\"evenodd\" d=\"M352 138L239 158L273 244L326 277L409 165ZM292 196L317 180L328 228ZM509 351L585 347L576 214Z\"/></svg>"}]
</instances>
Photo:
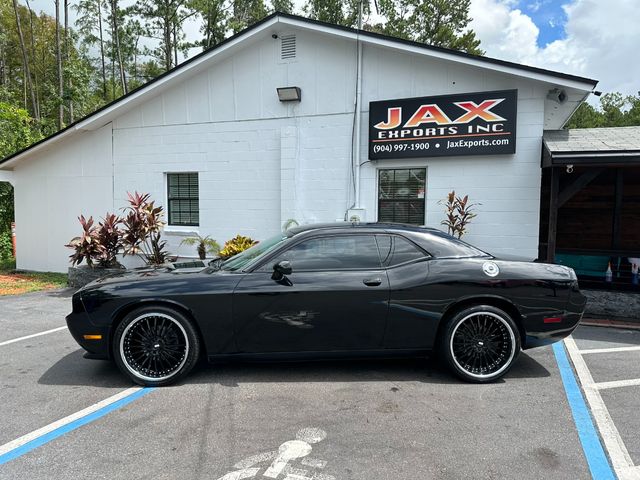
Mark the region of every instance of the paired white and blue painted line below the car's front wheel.
<instances>
[{"instance_id":1,"label":"paired white and blue painted line below the car's front wheel","mask_svg":"<svg viewBox=\"0 0 640 480\"><path fill-rule=\"evenodd\" d=\"M113 410L124 407L153 390L155 389L143 387L128 388L79 412L72 413L38 430L34 430L11 442L0 445L0 465L18 458L45 443L55 440L65 433L93 422Z\"/></svg>"}]
</instances>

